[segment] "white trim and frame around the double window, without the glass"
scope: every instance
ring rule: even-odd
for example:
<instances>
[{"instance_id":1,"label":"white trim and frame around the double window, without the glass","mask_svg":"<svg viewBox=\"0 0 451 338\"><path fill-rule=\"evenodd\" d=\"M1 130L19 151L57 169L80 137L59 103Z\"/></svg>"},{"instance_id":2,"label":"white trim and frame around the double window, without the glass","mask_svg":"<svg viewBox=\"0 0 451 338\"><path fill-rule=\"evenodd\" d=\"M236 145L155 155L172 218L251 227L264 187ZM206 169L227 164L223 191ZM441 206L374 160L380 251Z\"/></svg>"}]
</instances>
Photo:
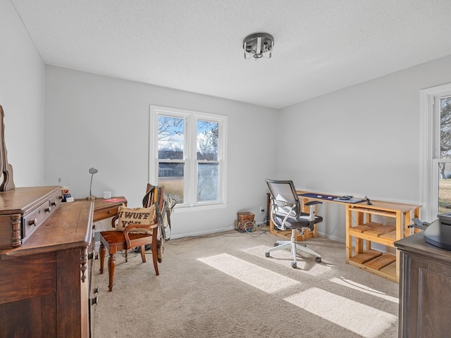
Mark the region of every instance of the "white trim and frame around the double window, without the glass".
<instances>
[{"instance_id":1,"label":"white trim and frame around the double window, without the glass","mask_svg":"<svg viewBox=\"0 0 451 338\"><path fill-rule=\"evenodd\" d=\"M218 145L218 159L221 163L221 174L219 177L219 201L214 202L199 202L197 203L197 189L188 189L190 180L192 181L192 187L197 187L197 177L194 177L192 168L190 165L185 165L185 193L189 194L188 203L183 205L175 205L175 208L180 210L204 210L212 208L224 208L227 204L227 189L226 189L226 177L227 177L227 116L213 113L204 113L200 111L190 111L180 108L171 108L165 106L151 105L149 108L149 166L148 166L148 180L149 182L158 182L158 142L155 133L158 133L158 115L169 115L180 118L185 117L185 121L189 118L195 118L196 120L211 120L213 122L220 122L219 132L223 134L222 142ZM196 134L196 125L193 123L187 123L187 128L192 128L190 132ZM194 130L194 131L193 131ZM185 133L185 146L187 149L196 149L194 139L187 139L187 133ZM194 147L194 148L193 148ZM196 159L192 159L194 163L197 163ZM180 162L180 161L178 161Z\"/></svg>"}]
</instances>

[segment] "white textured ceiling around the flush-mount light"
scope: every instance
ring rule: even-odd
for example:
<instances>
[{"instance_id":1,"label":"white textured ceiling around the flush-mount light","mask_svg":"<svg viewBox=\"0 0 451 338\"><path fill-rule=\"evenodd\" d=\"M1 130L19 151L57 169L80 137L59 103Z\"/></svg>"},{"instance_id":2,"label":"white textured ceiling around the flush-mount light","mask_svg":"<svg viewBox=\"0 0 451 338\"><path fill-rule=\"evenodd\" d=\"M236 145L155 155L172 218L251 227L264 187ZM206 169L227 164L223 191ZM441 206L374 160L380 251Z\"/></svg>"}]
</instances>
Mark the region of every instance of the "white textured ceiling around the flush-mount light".
<instances>
[{"instance_id":1,"label":"white textured ceiling around the flush-mount light","mask_svg":"<svg viewBox=\"0 0 451 338\"><path fill-rule=\"evenodd\" d=\"M46 64L272 108L451 55L450 0L11 2Z\"/></svg>"}]
</instances>

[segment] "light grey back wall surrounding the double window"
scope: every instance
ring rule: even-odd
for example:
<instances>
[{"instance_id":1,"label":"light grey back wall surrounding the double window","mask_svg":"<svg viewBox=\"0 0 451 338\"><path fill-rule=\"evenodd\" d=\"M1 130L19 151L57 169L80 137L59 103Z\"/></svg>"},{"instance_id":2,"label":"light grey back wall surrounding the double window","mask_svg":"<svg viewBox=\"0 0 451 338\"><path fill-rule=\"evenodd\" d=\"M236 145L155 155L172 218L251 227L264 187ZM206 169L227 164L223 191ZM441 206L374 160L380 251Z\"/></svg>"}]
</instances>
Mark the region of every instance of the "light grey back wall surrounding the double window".
<instances>
[{"instance_id":1,"label":"light grey back wall surrounding the double window","mask_svg":"<svg viewBox=\"0 0 451 338\"><path fill-rule=\"evenodd\" d=\"M276 176L276 144L268 136L276 110L49 65L45 94L46 185L61 178L75 198L84 198L94 167L94 195L111 191L140 206L148 179L149 105L218 113L228 116L228 206L175 211L173 237L233 228L237 211L263 217L264 179Z\"/></svg>"}]
</instances>

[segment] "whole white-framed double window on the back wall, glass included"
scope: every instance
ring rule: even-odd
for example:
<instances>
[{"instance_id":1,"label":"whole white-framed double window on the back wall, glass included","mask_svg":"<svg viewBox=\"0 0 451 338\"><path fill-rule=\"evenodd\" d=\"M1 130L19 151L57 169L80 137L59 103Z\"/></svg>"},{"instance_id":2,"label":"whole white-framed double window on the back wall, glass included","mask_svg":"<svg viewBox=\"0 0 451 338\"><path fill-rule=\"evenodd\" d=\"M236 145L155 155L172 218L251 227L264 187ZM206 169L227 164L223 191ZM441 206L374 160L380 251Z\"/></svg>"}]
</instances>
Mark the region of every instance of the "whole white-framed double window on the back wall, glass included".
<instances>
[{"instance_id":1,"label":"whole white-framed double window on the back wall, glass included","mask_svg":"<svg viewBox=\"0 0 451 338\"><path fill-rule=\"evenodd\" d=\"M150 107L149 182L177 206L226 203L226 116Z\"/></svg>"}]
</instances>

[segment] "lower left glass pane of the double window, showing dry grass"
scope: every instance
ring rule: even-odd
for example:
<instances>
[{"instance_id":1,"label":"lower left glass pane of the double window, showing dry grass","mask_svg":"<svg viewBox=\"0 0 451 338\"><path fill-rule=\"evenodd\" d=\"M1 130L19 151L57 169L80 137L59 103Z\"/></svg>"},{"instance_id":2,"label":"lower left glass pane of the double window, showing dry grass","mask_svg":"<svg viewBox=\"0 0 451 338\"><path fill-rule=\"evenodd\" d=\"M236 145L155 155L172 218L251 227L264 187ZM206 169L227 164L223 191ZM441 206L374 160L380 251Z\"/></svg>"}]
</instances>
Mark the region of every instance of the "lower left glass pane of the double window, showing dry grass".
<instances>
[{"instance_id":1,"label":"lower left glass pane of the double window, showing dry grass","mask_svg":"<svg viewBox=\"0 0 451 338\"><path fill-rule=\"evenodd\" d=\"M164 192L178 204L183 204L184 172L183 163L159 163L158 185L163 185Z\"/></svg>"}]
</instances>

